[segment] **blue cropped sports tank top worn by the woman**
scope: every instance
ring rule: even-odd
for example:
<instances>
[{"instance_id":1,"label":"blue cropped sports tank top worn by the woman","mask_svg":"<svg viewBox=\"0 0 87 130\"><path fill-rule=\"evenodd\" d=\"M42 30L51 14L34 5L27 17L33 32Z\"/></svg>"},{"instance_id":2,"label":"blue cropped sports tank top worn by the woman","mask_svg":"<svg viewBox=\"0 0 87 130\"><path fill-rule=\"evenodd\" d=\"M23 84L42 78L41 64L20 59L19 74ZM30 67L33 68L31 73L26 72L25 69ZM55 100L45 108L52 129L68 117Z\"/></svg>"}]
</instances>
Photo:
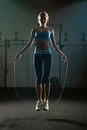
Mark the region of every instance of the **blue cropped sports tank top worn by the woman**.
<instances>
[{"instance_id":1,"label":"blue cropped sports tank top worn by the woman","mask_svg":"<svg viewBox=\"0 0 87 130\"><path fill-rule=\"evenodd\" d=\"M41 32L40 30L37 30L35 32L35 41L36 42L39 42L41 40L45 40L45 41L48 41L50 42L50 31L49 30L45 30L43 32Z\"/></svg>"}]
</instances>

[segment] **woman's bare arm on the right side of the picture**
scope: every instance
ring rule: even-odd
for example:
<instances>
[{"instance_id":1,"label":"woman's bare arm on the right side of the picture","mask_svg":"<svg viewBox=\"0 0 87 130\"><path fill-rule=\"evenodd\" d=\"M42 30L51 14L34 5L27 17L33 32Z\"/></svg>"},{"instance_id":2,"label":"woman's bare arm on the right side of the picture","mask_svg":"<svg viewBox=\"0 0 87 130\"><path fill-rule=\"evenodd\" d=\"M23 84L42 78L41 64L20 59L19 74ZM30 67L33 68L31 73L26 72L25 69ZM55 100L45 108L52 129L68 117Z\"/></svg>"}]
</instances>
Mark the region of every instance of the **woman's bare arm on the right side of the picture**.
<instances>
[{"instance_id":1,"label":"woman's bare arm on the right side of the picture","mask_svg":"<svg viewBox=\"0 0 87 130\"><path fill-rule=\"evenodd\" d=\"M52 47L62 56L64 61L67 61L67 57L65 56L65 54L60 50L60 48L56 44L53 29L51 29L51 41L52 41Z\"/></svg>"}]
</instances>

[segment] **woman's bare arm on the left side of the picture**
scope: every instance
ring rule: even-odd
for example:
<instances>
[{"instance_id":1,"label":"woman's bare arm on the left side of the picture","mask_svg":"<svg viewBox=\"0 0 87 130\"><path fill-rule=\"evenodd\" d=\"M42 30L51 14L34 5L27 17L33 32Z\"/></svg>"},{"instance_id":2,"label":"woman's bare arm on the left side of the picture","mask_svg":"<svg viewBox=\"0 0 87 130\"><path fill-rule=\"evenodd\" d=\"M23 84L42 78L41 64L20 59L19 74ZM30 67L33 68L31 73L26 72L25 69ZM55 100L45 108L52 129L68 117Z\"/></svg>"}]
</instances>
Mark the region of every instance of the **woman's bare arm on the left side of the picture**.
<instances>
[{"instance_id":1,"label":"woman's bare arm on the left side of the picture","mask_svg":"<svg viewBox=\"0 0 87 130\"><path fill-rule=\"evenodd\" d=\"M27 49L29 49L32 46L32 43L34 41L34 36L35 36L35 29L32 29L30 38L26 46L16 55L15 60L17 60L23 52L25 52Z\"/></svg>"}]
</instances>

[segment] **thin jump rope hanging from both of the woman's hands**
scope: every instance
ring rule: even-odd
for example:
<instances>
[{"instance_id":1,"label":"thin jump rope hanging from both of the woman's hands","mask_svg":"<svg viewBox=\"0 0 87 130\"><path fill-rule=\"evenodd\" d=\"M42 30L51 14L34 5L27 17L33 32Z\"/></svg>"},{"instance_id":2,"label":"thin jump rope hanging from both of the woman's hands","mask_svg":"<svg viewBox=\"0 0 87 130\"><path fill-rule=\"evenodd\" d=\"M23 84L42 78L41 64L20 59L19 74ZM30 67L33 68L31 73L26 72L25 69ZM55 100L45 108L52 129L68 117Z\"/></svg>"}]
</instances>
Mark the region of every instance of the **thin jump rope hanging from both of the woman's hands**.
<instances>
[{"instance_id":1,"label":"thin jump rope hanging from both of the woman's hands","mask_svg":"<svg viewBox=\"0 0 87 130\"><path fill-rule=\"evenodd\" d=\"M58 96L57 101L54 103L54 105L59 103L61 98L62 98L62 96L63 96L63 92L64 92L64 88L65 88L65 84L66 84L66 79L67 79L67 73L68 73L68 61L66 61L65 63L66 63L66 69L65 69L65 76L64 76L63 85L62 85L62 88L61 88L60 95ZM16 84L16 61L15 60L14 60L14 87L15 87L15 93L16 93L16 96L18 97L18 99L20 99L23 102L26 102L26 100L17 91L17 84Z\"/></svg>"}]
</instances>

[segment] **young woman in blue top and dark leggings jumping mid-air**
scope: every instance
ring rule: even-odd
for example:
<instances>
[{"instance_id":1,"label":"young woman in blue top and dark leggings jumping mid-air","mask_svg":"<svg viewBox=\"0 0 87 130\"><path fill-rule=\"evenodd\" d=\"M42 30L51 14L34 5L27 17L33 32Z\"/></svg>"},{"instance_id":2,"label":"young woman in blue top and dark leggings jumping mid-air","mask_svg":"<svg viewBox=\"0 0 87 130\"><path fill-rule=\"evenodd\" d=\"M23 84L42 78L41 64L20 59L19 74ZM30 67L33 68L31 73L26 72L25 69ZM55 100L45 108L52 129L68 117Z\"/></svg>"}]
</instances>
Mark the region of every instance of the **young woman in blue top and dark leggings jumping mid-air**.
<instances>
[{"instance_id":1,"label":"young woman in blue top and dark leggings jumping mid-air","mask_svg":"<svg viewBox=\"0 0 87 130\"><path fill-rule=\"evenodd\" d=\"M32 46L33 41L36 41L36 46L34 50L34 66L37 77L37 104L36 111L49 110L49 94L50 94L50 70L51 70L51 45L53 48L62 56L63 60L66 62L67 57L56 45L54 30L47 26L49 21L49 16L46 12L40 12L38 15L39 26L32 29L31 36L27 45L16 55L15 60L17 60L21 54ZM44 74L42 77L42 64L44 65ZM42 100L42 86L44 86L44 100Z\"/></svg>"}]
</instances>

